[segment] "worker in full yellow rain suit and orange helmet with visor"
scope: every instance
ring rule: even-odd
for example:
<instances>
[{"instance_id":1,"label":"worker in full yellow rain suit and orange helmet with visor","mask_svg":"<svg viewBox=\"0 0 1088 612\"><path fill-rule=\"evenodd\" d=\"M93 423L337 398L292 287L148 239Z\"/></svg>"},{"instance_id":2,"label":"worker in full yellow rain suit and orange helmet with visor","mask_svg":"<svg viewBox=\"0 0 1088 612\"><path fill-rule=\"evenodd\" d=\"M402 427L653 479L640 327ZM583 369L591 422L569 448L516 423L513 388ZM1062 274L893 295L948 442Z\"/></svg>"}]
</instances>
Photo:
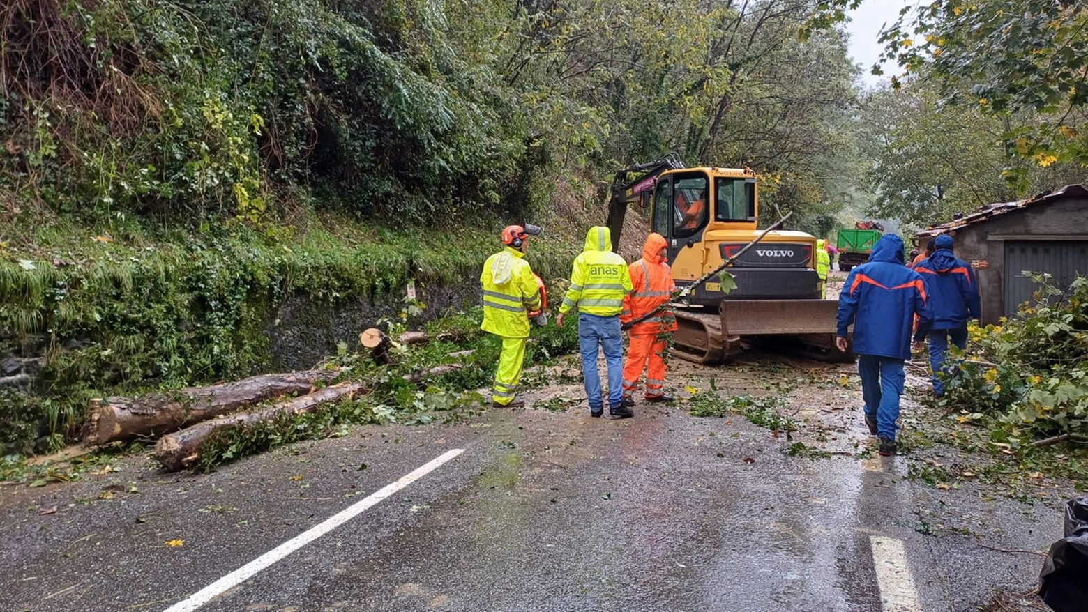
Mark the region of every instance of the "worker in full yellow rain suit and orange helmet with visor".
<instances>
[{"instance_id":1,"label":"worker in full yellow rain suit and orange helmet with visor","mask_svg":"<svg viewBox=\"0 0 1088 612\"><path fill-rule=\"evenodd\" d=\"M535 225L507 226L503 229L505 247L487 258L480 274L480 284L483 285L483 323L480 328L503 338L503 352L491 390L494 408L526 404L517 397L518 383L521 382L521 364L529 339L529 312L540 310L541 293L524 257L529 236L540 233L541 228Z\"/></svg>"}]
</instances>

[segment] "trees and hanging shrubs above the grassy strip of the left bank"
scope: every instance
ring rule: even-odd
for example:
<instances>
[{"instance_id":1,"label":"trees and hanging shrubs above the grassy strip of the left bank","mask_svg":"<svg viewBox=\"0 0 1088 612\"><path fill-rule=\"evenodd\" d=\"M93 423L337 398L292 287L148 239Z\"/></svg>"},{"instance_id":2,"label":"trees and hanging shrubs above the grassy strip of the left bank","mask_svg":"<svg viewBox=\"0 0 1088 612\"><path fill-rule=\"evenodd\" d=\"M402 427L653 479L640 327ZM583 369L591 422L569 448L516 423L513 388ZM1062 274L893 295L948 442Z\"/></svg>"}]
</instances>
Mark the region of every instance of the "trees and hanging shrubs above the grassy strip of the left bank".
<instances>
[{"instance_id":1,"label":"trees and hanging shrubs above the grassy strip of the left bank","mask_svg":"<svg viewBox=\"0 0 1088 612\"><path fill-rule=\"evenodd\" d=\"M433 223L518 217L557 176L677 150L751 165L803 222L837 205L855 71L838 34L796 40L811 8L16 0L0 189L96 221Z\"/></svg>"}]
</instances>

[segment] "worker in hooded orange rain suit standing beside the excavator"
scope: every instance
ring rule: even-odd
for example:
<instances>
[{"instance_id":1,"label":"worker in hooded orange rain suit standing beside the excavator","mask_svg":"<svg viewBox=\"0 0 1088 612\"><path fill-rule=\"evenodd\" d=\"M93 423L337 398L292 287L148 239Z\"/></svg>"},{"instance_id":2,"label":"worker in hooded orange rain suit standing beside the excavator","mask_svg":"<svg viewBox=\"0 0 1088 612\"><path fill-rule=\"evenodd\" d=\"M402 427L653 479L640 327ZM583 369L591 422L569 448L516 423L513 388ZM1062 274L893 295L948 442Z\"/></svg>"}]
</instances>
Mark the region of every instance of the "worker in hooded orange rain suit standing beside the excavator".
<instances>
[{"instance_id":1,"label":"worker in hooded orange rain suit standing beside the excavator","mask_svg":"<svg viewBox=\"0 0 1088 612\"><path fill-rule=\"evenodd\" d=\"M676 291L672 282L672 271L665 263L668 257L668 243L659 234L646 237L642 247L642 259L628 266L631 273L633 292L623 297L623 311L619 315L622 329L630 330L631 345L627 350L627 363L623 364L623 404L634 405L631 397L639 386L642 369L646 372L646 401L670 402L672 398L665 395L665 354L668 351L666 334L677 328L676 317L668 310L654 314L643 322L632 325L632 321L653 312L663 303L667 303Z\"/></svg>"}]
</instances>

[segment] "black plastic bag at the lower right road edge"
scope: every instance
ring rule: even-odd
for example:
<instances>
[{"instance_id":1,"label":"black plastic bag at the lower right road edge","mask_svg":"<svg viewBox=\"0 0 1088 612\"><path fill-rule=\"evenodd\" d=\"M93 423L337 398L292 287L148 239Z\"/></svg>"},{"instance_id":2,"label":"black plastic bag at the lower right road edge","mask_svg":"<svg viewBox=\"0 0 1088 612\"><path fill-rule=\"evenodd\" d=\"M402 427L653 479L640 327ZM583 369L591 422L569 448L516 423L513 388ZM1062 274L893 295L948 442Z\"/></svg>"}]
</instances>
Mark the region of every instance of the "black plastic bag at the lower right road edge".
<instances>
[{"instance_id":1,"label":"black plastic bag at the lower right road edge","mask_svg":"<svg viewBox=\"0 0 1088 612\"><path fill-rule=\"evenodd\" d=\"M1065 507L1065 537L1050 546L1039 574L1039 597L1056 612L1088 609L1088 497Z\"/></svg>"}]
</instances>

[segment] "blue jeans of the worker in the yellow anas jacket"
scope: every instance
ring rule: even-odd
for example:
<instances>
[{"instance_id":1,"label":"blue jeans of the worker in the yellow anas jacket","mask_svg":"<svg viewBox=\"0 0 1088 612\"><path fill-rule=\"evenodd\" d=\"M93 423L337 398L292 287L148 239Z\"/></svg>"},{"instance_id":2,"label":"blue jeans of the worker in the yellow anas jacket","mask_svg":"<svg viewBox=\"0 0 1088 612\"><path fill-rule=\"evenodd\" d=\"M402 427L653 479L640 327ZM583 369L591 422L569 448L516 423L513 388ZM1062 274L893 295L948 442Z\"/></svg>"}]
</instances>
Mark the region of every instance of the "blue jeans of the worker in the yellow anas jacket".
<instances>
[{"instance_id":1,"label":"blue jeans of the worker in the yellow anas jacket","mask_svg":"<svg viewBox=\"0 0 1088 612\"><path fill-rule=\"evenodd\" d=\"M619 408L623 402L623 337L619 332L619 315L596 316L578 314L578 346L582 350L582 378L590 410L604 409L601 399L601 375L597 374L597 354L605 351L608 365L608 408Z\"/></svg>"}]
</instances>

